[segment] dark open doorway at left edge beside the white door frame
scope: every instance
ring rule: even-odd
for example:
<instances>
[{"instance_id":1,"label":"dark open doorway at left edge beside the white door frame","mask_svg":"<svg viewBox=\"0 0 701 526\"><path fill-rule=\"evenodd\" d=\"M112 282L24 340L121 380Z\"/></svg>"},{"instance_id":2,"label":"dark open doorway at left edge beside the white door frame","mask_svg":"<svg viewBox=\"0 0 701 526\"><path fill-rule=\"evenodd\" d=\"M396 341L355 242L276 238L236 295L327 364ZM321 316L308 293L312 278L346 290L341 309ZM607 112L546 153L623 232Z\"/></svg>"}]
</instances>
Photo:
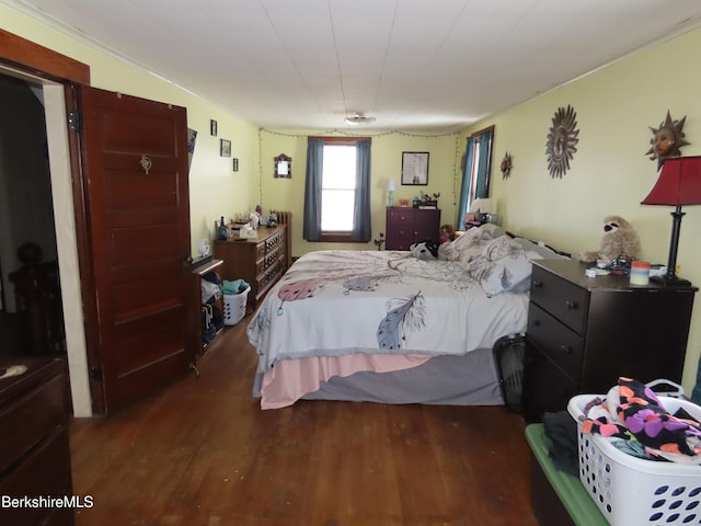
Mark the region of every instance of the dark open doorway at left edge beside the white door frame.
<instances>
[{"instance_id":1,"label":"dark open doorway at left edge beside the white door frame","mask_svg":"<svg viewBox=\"0 0 701 526\"><path fill-rule=\"evenodd\" d=\"M59 324L54 321L62 319L60 296L53 301L47 290L41 305L27 305L23 296L35 291L26 290L38 282L35 271L47 288L59 287L42 87L0 76L0 353L8 357L65 355L62 327L54 329ZM22 258L31 266L21 261L20 247L24 247ZM33 250L36 248L39 251ZM38 316L28 317L27 310ZM32 328L30 319L36 321Z\"/></svg>"}]
</instances>

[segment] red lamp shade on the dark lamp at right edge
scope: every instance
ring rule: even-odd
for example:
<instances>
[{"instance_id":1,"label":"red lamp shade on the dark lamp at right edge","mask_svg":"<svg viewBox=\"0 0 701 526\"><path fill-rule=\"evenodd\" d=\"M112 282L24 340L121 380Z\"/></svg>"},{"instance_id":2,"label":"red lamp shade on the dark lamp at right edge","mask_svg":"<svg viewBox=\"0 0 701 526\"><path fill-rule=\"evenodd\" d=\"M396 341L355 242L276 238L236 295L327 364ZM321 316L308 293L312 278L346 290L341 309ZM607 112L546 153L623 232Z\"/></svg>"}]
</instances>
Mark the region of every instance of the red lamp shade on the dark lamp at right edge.
<instances>
[{"instance_id":1,"label":"red lamp shade on the dark lamp at right edge","mask_svg":"<svg viewBox=\"0 0 701 526\"><path fill-rule=\"evenodd\" d=\"M701 205L701 156L665 160L657 183L642 205Z\"/></svg>"}]
</instances>

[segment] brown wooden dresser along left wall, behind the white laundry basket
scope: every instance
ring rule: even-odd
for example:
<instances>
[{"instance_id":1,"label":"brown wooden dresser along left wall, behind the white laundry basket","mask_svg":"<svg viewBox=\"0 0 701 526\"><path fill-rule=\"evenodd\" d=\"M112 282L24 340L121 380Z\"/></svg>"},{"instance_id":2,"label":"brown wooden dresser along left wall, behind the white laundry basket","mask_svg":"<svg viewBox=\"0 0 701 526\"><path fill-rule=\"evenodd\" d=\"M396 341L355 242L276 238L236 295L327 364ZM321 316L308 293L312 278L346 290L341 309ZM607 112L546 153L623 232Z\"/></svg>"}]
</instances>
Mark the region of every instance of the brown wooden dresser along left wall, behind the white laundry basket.
<instances>
[{"instance_id":1,"label":"brown wooden dresser along left wall, behind the white laundry basket","mask_svg":"<svg viewBox=\"0 0 701 526\"><path fill-rule=\"evenodd\" d=\"M249 308L255 304L287 271L287 225L261 227L252 239L215 241L214 256L223 260L221 278L243 279L251 285Z\"/></svg>"}]
</instances>

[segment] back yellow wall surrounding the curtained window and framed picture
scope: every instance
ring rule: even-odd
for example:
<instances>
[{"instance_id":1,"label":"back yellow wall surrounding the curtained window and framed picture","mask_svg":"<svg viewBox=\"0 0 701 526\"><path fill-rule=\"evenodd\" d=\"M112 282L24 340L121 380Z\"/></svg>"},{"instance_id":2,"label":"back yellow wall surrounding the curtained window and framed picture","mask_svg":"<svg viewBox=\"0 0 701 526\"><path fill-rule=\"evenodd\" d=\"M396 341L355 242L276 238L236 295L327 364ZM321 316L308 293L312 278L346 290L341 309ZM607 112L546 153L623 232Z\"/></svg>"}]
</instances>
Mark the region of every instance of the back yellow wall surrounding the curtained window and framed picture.
<instances>
[{"instance_id":1,"label":"back yellow wall surrounding the curtained window and framed picture","mask_svg":"<svg viewBox=\"0 0 701 526\"><path fill-rule=\"evenodd\" d=\"M302 239L302 217L304 197L304 173L307 170L307 137L340 136L340 133L326 132L275 132L261 130L261 197L260 203L265 214L271 209L292 211L292 254L300 256L307 252L324 249L367 250L375 249L370 243L312 243ZM350 134L343 134L348 136ZM394 192L394 205L398 199L412 199L423 191L427 194L440 193L438 207L441 209L443 222L455 224L456 203L459 195L459 181L456 173L459 171L460 158L464 144L458 144L457 134L430 136L420 134L403 134L398 132L363 134L363 130L353 136L372 138L371 162L371 208L372 208L372 236L379 238L384 232L386 210L388 204L387 183L393 179L397 184ZM401 184L402 152L427 151L428 157L428 184L426 186L403 186ZM292 158L291 179L275 179L273 176L273 159L280 153ZM456 190L457 188L457 190Z\"/></svg>"}]
</instances>

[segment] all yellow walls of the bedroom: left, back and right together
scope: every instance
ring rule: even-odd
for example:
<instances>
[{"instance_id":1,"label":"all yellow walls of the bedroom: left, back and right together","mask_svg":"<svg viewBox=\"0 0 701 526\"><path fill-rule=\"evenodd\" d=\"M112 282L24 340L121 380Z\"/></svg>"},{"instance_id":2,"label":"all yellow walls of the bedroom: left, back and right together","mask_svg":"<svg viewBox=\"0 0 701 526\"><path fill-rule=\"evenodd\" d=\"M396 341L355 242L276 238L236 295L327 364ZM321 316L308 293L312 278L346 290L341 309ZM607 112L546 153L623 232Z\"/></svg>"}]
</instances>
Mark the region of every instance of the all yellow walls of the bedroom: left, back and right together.
<instances>
[{"instance_id":1,"label":"all yellow walls of the bedroom: left, back and right together","mask_svg":"<svg viewBox=\"0 0 701 526\"><path fill-rule=\"evenodd\" d=\"M336 248L301 239L303 174L307 133L258 130L235 115L166 82L148 71L97 52L4 4L0 27L90 65L92 83L147 99L187 107L188 124L198 132L191 170L192 244L214 236L219 216L232 217L261 204L295 214L292 253ZM682 155L701 155L701 71L697 55L701 30L659 45L566 87L476 123L461 134L439 137L400 133L367 134L372 138L372 232L384 230L387 181L395 179L394 198L411 198L420 190L440 192L443 222L455 222L459 194L459 162L469 133L495 125L494 170L491 195L503 225L513 231L543 239L577 253L598 248L602 218L610 214L628 218L637 229L643 258L666 263L671 219L666 207L645 207L640 201L656 181L656 162L645 156L651 126L657 127L667 110L674 118L687 116L685 132L691 142ZM468 95L467 95L468 96ZM577 113L579 144L563 179L552 179L545 161L545 136L560 106L571 104ZM218 121L218 137L209 136L209 119ZM323 135L322 132L310 132ZM363 130L358 133L363 135ZM219 138L232 141L239 172L231 158L219 157ZM429 151L428 186L402 186L401 152ZM510 178L503 180L499 160L514 158ZM273 178L273 158L292 158L292 178ZM681 227L678 262L681 275L701 284L701 209L687 207ZM347 248L347 245L341 245ZM372 248L371 243L356 248ZM685 369L685 387L696 382L701 350L701 305L694 306ZM665 350L660 348L660 353Z\"/></svg>"}]
</instances>

